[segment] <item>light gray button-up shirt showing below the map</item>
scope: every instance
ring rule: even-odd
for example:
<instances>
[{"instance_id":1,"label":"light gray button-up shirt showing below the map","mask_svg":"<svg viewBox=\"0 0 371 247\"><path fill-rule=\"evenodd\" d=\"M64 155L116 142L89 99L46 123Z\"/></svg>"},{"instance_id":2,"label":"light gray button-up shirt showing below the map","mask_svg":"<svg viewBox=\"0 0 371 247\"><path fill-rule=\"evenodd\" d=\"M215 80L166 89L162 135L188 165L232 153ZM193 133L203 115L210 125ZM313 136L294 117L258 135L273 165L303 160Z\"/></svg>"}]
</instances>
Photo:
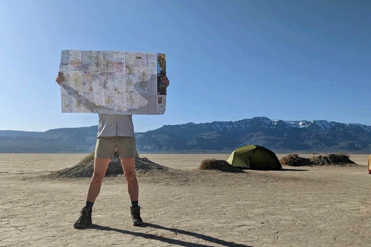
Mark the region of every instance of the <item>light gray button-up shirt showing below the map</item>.
<instances>
[{"instance_id":1,"label":"light gray button-up shirt showing below the map","mask_svg":"<svg viewBox=\"0 0 371 247\"><path fill-rule=\"evenodd\" d=\"M98 134L101 136L134 136L131 115L99 113Z\"/></svg>"}]
</instances>

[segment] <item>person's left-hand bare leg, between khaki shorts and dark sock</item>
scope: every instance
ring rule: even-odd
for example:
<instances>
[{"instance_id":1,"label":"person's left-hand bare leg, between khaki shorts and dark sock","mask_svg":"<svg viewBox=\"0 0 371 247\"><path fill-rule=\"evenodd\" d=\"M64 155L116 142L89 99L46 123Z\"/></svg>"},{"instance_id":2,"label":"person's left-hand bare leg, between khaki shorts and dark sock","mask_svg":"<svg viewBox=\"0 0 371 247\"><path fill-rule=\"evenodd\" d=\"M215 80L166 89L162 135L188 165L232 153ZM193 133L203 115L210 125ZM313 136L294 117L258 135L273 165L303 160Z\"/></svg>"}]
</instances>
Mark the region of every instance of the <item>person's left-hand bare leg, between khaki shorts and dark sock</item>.
<instances>
[{"instance_id":1,"label":"person's left-hand bare leg, between khaki shorts and dark sock","mask_svg":"<svg viewBox=\"0 0 371 247\"><path fill-rule=\"evenodd\" d=\"M92 180L90 181L86 201L94 202L98 197L109 161L111 161L111 158L94 158L94 173Z\"/></svg>"}]
</instances>

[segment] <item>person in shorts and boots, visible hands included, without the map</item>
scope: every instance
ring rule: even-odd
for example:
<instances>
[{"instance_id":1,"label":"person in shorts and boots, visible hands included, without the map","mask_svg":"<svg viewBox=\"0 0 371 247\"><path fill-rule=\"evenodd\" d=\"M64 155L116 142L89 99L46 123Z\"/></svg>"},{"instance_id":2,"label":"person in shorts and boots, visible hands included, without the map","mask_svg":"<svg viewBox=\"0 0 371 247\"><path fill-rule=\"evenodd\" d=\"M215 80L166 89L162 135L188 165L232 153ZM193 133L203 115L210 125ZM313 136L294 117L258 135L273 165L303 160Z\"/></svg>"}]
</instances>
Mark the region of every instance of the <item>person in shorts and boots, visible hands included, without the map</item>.
<instances>
[{"instance_id":1,"label":"person in shorts and boots, visible hands included, without the map","mask_svg":"<svg viewBox=\"0 0 371 247\"><path fill-rule=\"evenodd\" d=\"M64 81L62 72L58 72L55 81L60 85ZM169 79L166 75L161 77L161 82L167 87ZM109 161L114 156L115 148L120 155L122 169L127 181L128 194L131 201L130 213L132 225L141 225L140 208L138 205L139 187L135 174L135 157L137 147L134 136L134 126L131 115L98 114L98 134L95 145L94 171L89 184L85 206L80 211L78 220L73 224L75 228L83 228L92 224L92 208L95 199L101 190L102 180L106 174Z\"/></svg>"}]
</instances>

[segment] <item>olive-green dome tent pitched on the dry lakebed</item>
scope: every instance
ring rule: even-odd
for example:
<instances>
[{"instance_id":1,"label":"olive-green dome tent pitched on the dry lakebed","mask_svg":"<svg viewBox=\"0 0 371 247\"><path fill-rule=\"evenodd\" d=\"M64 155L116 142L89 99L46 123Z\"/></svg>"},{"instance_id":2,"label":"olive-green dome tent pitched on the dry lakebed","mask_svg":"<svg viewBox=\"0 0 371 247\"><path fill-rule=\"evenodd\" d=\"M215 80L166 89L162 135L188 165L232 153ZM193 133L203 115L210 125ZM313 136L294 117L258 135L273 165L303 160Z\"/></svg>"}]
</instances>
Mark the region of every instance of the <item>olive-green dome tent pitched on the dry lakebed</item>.
<instances>
[{"instance_id":1,"label":"olive-green dome tent pitched on the dry lakebed","mask_svg":"<svg viewBox=\"0 0 371 247\"><path fill-rule=\"evenodd\" d=\"M253 170L278 170L282 169L276 154L269 149L248 145L232 152L227 162L234 167Z\"/></svg>"}]
</instances>

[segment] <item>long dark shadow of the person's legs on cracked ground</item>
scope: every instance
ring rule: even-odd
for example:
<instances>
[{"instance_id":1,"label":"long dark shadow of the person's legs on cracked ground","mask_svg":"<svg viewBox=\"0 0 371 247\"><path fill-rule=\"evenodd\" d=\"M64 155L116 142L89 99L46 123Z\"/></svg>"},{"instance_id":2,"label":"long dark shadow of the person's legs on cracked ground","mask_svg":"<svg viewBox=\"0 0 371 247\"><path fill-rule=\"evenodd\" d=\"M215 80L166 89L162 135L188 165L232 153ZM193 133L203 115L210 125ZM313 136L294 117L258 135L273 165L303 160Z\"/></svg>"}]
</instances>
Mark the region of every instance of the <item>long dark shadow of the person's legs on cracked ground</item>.
<instances>
[{"instance_id":1,"label":"long dark shadow of the person's legs on cracked ground","mask_svg":"<svg viewBox=\"0 0 371 247\"><path fill-rule=\"evenodd\" d=\"M167 228L167 227L163 227L161 225L156 225L156 224L151 224L151 223L143 223L143 225L140 225L139 227L152 227L152 228L157 228L157 229L161 229L161 230L172 231L174 234L184 234L184 235L200 238L202 240L206 240L206 241L209 241L211 243L220 244L220 245L223 245L223 246L253 247L253 246L248 246L248 245L244 245L244 244L237 244L237 243L224 241L224 240L221 240L219 238L214 238L214 237L206 236L206 235L199 234L199 233L193 233L191 231L184 231L184 230L180 230L180 229L176 229L176 228ZM132 235L132 236L135 236L135 237L142 237L142 238L149 238L149 239L153 239L153 240L158 240L158 241L162 241L164 243L174 244L174 245L177 245L177 246L210 247L210 246L204 245L204 244L191 243L191 242L186 242L186 241L183 241L183 240L175 240L175 239L172 239L172 238L157 236L157 235L154 235L154 234L139 233L139 232L135 232L135 231L128 231L128 230L122 230L122 229L117 229L117 228L105 227L105 226L96 225L96 224L88 225L83 229L98 229L98 230L101 230L101 231L115 231L115 232L118 232L118 233L129 234L129 235Z\"/></svg>"}]
</instances>

